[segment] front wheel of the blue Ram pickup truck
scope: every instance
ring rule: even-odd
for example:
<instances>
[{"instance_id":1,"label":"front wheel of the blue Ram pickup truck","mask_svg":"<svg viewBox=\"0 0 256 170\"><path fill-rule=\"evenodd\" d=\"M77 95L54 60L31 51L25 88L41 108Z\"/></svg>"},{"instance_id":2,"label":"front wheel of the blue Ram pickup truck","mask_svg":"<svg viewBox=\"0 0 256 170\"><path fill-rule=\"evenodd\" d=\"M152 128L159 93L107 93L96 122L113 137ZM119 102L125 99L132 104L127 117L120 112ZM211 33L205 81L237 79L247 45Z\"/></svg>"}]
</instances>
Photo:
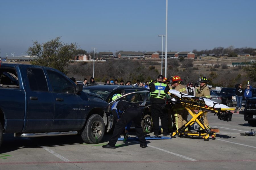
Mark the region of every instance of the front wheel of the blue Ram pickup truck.
<instances>
[{"instance_id":1,"label":"front wheel of the blue Ram pickup truck","mask_svg":"<svg viewBox=\"0 0 256 170\"><path fill-rule=\"evenodd\" d=\"M105 124L102 117L98 114L93 114L87 120L81 137L85 143L95 144L101 142L104 133Z\"/></svg>"}]
</instances>

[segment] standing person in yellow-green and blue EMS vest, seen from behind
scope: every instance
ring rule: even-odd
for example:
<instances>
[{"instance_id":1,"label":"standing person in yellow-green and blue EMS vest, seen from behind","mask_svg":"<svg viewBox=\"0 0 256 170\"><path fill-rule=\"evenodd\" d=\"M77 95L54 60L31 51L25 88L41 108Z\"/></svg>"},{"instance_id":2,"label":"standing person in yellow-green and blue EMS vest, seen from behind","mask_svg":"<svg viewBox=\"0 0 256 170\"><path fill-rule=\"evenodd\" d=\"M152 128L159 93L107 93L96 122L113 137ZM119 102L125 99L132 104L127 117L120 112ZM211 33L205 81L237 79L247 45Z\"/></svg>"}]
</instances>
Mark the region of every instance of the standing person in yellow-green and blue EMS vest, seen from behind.
<instances>
[{"instance_id":1,"label":"standing person in yellow-green and blue EMS vest, seen from behind","mask_svg":"<svg viewBox=\"0 0 256 170\"><path fill-rule=\"evenodd\" d=\"M157 82L150 85L150 103L151 103L151 117L153 122L153 132L155 136L161 134L159 129L159 117L163 128L163 135L167 136L168 133L168 114L165 107L164 97L168 94L170 88L163 83L164 76L159 75Z\"/></svg>"}]
</instances>

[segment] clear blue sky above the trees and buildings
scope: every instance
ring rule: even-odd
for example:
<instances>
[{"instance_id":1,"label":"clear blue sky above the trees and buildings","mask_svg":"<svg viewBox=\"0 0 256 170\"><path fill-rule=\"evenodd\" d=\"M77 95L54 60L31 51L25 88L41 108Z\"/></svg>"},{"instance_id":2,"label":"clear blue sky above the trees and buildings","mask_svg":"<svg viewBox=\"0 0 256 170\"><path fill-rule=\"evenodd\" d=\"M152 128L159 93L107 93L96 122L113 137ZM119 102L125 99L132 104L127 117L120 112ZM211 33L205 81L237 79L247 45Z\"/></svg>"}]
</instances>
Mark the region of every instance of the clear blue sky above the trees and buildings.
<instances>
[{"instance_id":1,"label":"clear blue sky above the trees and buildings","mask_svg":"<svg viewBox=\"0 0 256 170\"><path fill-rule=\"evenodd\" d=\"M167 50L256 48L255 7L255 0L168 0ZM57 36L87 51L157 51L165 19L166 0L1 0L0 56L24 55L32 41Z\"/></svg>"}]
</instances>

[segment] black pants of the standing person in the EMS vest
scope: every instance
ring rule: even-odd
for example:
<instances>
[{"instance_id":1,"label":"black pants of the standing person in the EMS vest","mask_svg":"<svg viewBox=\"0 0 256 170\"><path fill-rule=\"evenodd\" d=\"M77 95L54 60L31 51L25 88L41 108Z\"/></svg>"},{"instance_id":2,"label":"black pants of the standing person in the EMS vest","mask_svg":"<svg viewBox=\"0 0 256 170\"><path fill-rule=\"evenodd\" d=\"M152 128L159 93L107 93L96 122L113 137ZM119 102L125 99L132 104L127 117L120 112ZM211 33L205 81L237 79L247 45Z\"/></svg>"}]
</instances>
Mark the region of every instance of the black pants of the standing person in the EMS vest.
<instances>
[{"instance_id":1,"label":"black pants of the standing person in the EMS vest","mask_svg":"<svg viewBox=\"0 0 256 170\"><path fill-rule=\"evenodd\" d=\"M159 134L159 117L163 128L163 133L168 133L168 113L167 109L162 109L163 104L151 104L151 117L153 122L153 132ZM161 133L160 133L161 134Z\"/></svg>"}]
</instances>

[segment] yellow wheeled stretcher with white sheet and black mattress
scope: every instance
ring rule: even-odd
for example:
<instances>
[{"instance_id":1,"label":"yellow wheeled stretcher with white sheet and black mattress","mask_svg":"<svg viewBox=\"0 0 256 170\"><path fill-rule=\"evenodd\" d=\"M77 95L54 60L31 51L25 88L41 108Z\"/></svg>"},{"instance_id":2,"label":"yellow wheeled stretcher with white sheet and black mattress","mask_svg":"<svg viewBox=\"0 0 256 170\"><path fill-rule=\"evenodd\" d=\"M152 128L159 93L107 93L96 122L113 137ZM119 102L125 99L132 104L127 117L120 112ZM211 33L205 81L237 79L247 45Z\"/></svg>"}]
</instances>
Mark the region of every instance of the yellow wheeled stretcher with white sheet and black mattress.
<instances>
[{"instance_id":1,"label":"yellow wheeled stretcher with white sheet and black mattress","mask_svg":"<svg viewBox=\"0 0 256 170\"><path fill-rule=\"evenodd\" d=\"M176 135L182 136L182 135L191 135L191 136L199 136L202 137L203 140L208 141L209 137L211 136L212 139L215 139L216 133L214 131L211 131L210 128L208 128L204 122L203 122L203 117L204 114L207 112L212 112L217 114L218 118L220 120L224 121L231 121L232 119L232 110L231 108L221 108L220 106L225 106L225 105L219 105L218 103L213 103L213 107L209 107L206 105L206 102L204 98L202 97L191 97L182 93L179 94L173 94L168 92L168 94L175 99L167 99L168 102L174 105L183 105L185 109L191 114L192 119L189 120L185 125L183 125L181 128L177 129L175 132L171 133L171 137L175 138ZM218 107L214 107L214 106ZM198 110L199 112L196 113L194 110ZM190 129L190 127L194 124L197 123L202 130L198 131L186 131L185 129Z\"/></svg>"}]
</instances>

